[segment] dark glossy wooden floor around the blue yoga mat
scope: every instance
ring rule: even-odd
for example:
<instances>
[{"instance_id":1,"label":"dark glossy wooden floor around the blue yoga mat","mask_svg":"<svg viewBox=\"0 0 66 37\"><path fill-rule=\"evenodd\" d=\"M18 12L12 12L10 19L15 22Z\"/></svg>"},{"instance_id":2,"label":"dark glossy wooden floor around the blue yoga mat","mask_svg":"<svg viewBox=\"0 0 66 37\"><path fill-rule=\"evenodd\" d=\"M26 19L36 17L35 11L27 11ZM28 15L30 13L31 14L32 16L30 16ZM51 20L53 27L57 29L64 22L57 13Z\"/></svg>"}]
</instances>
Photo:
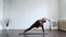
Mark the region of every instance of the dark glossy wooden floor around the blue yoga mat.
<instances>
[{"instance_id":1,"label":"dark glossy wooden floor around the blue yoga mat","mask_svg":"<svg viewBox=\"0 0 66 37\"><path fill-rule=\"evenodd\" d=\"M66 32L62 30L45 30L47 35L19 35L23 30L10 29L7 33L7 37L66 37ZM28 33L42 33L42 30L29 30Z\"/></svg>"}]
</instances>

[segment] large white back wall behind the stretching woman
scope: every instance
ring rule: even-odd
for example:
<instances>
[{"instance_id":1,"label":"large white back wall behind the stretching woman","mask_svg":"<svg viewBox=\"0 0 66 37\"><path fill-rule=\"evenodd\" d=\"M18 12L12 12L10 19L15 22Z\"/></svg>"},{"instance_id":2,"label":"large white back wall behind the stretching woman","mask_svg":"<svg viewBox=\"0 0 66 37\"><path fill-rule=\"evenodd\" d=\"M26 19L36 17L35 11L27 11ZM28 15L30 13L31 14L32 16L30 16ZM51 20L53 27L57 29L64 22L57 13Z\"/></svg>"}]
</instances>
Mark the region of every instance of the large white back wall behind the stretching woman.
<instances>
[{"instance_id":1,"label":"large white back wall behind the stretching woman","mask_svg":"<svg viewBox=\"0 0 66 37\"><path fill-rule=\"evenodd\" d=\"M9 29L26 29L41 17L58 20L58 0L9 0L6 3L4 18L10 18ZM44 27L50 29L48 22Z\"/></svg>"}]
</instances>

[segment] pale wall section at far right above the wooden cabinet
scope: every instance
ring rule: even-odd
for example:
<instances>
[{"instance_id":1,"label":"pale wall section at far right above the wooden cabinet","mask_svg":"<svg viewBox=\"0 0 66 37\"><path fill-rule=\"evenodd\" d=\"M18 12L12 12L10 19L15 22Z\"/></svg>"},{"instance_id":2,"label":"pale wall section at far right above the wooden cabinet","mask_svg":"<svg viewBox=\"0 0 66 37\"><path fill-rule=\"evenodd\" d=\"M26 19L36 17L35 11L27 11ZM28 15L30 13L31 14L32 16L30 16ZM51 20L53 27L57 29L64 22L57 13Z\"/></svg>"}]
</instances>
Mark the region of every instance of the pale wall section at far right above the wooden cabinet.
<instances>
[{"instance_id":1,"label":"pale wall section at far right above the wooden cabinet","mask_svg":"<svg viewBox=\"0 0 66 37\"><path fill-rule=\"evenodd\" d=\"M59 0L59 18L66 20L66 0Z\"/></svg>"}]
</instances>

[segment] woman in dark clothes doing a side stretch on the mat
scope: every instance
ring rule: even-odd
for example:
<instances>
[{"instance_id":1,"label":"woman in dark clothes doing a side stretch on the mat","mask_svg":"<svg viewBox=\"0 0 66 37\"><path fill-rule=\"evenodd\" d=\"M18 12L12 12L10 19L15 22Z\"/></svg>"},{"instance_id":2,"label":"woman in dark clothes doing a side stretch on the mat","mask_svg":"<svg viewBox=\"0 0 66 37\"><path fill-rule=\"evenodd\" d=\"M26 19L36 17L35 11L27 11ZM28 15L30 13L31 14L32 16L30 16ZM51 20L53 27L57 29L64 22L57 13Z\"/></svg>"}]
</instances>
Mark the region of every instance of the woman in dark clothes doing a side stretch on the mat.
<instances>
[{"instance_id":1,"label":"woman in dark clothes doing a side stretch on the mat","mask_svg":"<svg viewBox=\"0 0 66 37\"><path fill-rule=\"evenodd\" d=\"M41 20L37 20L30 28L25 29L23 33L25 33L25 32L28 32L28 30L30 30L30 29L32 29L34 27L36 27L36 28L42 27L42 30L44 33L43 24L46 23L46 21L51 22L51 20L48 20L46 17L43 17Z\"/></svg>"}]
</instances>

